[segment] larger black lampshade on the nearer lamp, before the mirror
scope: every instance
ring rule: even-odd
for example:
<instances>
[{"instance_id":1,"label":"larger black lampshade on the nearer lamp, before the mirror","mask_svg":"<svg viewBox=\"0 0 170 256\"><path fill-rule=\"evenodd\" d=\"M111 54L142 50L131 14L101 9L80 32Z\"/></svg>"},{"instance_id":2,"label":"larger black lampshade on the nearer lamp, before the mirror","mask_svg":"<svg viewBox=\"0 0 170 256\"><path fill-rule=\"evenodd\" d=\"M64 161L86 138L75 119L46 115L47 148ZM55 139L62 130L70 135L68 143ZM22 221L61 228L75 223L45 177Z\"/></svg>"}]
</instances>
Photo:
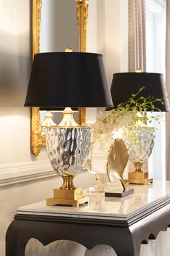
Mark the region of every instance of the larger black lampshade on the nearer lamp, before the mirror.
<instances>
[{"instance_id":1,"label":"larger black lampshade on the nearer lamp, before the mirror","mask_svg":"<svg viewBox=\"0 0 170 256\"><path fill-rule=\"evenodd\" d=\"M35 54L25 106L113 107L101 54Z\"/></svg>"}]
</instances>

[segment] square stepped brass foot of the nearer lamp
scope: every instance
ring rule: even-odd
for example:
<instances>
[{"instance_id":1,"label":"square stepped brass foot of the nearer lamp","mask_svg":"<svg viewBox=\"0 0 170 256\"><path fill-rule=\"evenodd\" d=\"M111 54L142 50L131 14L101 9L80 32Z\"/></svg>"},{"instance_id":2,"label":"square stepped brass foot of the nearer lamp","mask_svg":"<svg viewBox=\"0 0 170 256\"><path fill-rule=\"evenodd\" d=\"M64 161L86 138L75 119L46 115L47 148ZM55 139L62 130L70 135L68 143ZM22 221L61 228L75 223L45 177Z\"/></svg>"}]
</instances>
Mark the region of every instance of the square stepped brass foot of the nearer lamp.
<instances>
[{"instance_id":1,"label":"square stepped brass foot of the nearer lamp","mask_svg":"<svg viewBox=\"0 0 170 256\"><path fill-rule=\"evenodd\" d=\"M79 205L89 202L89 197L82 197L82 189L54 189L54 197L46 199L46 205Z\"/></svg>"}]
</instances>

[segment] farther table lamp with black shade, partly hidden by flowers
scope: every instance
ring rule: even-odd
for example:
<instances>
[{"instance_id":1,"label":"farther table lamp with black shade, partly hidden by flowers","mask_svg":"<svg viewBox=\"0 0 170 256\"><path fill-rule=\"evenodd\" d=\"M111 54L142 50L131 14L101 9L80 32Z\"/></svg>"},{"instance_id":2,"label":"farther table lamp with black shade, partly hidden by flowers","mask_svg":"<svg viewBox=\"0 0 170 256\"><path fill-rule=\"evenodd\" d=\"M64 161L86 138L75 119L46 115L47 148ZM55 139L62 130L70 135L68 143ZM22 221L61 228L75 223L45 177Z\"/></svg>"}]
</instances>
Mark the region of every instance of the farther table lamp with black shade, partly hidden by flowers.
<instances>
[{"instance_id":1,"label":"farther table lamp with black shade, partly hidden by flowers","mask_svg":"<svg viewBox=\"0 0 170 256\"><path fill-rule=\"evenodd\" d=\"M169 99L166 94L166 86L164 84L163 75L158 73L116 73L113 76L111 84L111 97L113 100L114 107L117 107L120 103L127 102L132 94L137 94L140 88L145 87L140 92L139 96L148 97L152 96L155 99L162 99L162 102L154 102L154 111L161 110L162 112L169 111ZM111 109L110 109L111 110ZM146 111L150 111L150 108ZM125 131L125 141L127 141L127 149L129 158L134 160L135 171L128 174L128 179L124 180L126 183L142 183L148 184L153 182L153 178L148 178L148 171L142 170L143 160L147 159L152 152L154 144L154 134L148 127L136 128L132 131L129 129L131 136L139 136L141 142L140 155L137 156L135 148L139 148L139 145L132 145L127 136L127 130ZM143 146L143 148L142 148ZM131 155L131 153L133 154ZM143 153L143 154L142 154ZM146 155L148 154L148 155ZM141 157L141 156L145 157ZM140 159L141 158L141 159ZM142 160L143 158L143 160ZM138 161L140 160L140 162Z\"/></svg>"}]
</instances>

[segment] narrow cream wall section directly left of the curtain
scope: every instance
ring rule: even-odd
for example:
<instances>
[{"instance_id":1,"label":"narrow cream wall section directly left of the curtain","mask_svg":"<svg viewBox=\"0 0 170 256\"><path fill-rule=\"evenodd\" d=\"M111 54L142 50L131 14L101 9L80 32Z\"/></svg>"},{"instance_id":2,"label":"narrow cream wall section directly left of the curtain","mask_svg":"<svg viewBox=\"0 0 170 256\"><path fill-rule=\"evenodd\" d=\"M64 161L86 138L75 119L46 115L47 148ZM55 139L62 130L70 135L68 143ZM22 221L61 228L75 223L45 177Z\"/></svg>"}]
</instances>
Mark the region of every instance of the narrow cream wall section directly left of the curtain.
<instances>
[{"instance_id":1,"label":"narrow cream wall section directly left of the curtain","mask_svg":"<svg viewBox=\"0 0 170 256\"><path fill-rule=\"evenodd\" d=\"M107 0L105 58L109 85L114 73L128 69L128 0Z\"/></svg>"}]
</instances>

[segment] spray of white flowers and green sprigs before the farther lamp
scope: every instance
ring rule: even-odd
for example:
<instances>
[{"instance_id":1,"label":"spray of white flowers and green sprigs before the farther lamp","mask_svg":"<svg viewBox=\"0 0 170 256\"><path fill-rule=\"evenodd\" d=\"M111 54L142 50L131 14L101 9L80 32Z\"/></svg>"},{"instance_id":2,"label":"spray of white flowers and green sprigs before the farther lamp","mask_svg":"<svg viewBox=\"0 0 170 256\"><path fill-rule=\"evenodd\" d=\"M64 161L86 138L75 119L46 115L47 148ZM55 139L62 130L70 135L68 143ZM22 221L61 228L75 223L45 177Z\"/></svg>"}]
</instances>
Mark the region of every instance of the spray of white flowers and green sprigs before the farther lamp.
<instances>
[{"instance_id":1,"label":"spray of white flowers and green sprigs before the farther lamp","mask_svg":"<svg viewBox=\"0 0 170 256\"><path fill-rule=\"evenodd\" d=\"M109 133L114 129L119 129L128 125L143 126L146 123L151 123L153 120L160 122L162 120L161 110L155 107L156 102L161 102L162 99L156 99L153 96L140 96L140 92L145 87L141 87L137 94L132 94L127 102L121 103L116 109L99 112L96 122L92 125L93 133ZM159 115L141 114L146 111L157 111Z\"/></svg>"}]
</instances>

